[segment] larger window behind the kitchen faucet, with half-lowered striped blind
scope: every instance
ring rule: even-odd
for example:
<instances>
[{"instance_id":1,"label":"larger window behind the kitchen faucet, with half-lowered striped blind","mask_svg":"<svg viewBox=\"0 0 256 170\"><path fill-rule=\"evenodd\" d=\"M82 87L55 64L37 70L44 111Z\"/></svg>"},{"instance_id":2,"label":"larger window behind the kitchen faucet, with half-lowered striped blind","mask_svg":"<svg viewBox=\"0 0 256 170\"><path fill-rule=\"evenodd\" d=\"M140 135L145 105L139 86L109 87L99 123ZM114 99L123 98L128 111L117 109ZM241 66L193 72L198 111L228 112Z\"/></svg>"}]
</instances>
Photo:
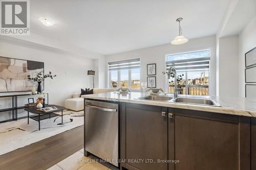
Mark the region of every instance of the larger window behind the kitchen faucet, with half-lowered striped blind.
<instances>
[{"instance_id":1,"label":"larger window behind the kitchen faucet, with half-lowered striped blind","mask_svg":"<svg viewBox=\"0 0 256 170\"><path fill-rule=\"evenodd\" d=\"M210 49L166 55L166 70L175 64L179 94L209 95ZM167 76L166 76L167 80ZM167 91L174 92L174 79L168 81Z\"/></svg>"}]
</instances>

